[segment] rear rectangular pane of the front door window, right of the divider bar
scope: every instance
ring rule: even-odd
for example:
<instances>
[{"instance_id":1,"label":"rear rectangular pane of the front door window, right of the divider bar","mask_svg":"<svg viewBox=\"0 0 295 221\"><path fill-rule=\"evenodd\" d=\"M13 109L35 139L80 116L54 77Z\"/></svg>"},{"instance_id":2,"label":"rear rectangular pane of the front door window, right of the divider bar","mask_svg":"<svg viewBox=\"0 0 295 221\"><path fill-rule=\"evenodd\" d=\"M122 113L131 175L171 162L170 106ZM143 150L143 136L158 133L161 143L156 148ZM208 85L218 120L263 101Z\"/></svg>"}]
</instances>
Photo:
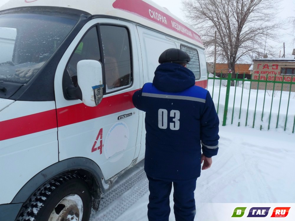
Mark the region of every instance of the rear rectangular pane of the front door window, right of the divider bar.
<instances>
[{"instance_id":1,"label":"rear rectangular pane of the front door window, right of the divider bar","mask_svg":"<svg viewBox=\"0 0 295 221\"><path fill-rule=\"evenodd\" d=\"M130 37L127 28L100 25L106 93L132 84Z\"/></svg>"}]
</instances>

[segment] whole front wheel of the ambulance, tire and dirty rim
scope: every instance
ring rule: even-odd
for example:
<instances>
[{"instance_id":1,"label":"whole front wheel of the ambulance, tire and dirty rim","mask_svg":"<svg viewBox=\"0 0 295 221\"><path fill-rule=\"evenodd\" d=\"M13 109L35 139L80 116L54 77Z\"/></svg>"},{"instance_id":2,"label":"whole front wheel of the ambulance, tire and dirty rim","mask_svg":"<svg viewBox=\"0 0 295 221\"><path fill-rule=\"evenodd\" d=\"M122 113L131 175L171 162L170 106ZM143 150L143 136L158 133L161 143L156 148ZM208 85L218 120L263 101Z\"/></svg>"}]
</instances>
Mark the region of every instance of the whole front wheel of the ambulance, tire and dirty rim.
<instances>
[{"instance_id":1,"label":"whole front wheel of the ambulance, tire and dirty rim","mask_svg":"<svg viewBox=\"0 0 295 221\"><path fill-rule=\"evenodd\" d=\"M88 221L91 212L91 192L77 174L56 177L24 204L17 221Z\"/></svg>"}]
</instances>

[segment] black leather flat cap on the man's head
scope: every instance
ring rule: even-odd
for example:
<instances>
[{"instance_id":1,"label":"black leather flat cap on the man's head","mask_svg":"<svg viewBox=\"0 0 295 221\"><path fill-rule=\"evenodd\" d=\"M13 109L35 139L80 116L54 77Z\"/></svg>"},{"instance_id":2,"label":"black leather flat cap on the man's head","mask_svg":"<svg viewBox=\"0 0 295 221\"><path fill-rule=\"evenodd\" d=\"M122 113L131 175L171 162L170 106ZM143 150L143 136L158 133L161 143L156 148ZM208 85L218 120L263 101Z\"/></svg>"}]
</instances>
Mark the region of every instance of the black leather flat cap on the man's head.
<instances>
[{"instance_id":1,"label":"black leather flat cap on the man's head","mask_svg":"<svg viewBox=\"0 0 295 221\"><path fill-rule=\"evenodd\" d=\"M165 50L159 57L159 63L173 62L173 63L187 63L191 60L189 55L177 48L169 48Z\"/></svg>"}]
</instances>

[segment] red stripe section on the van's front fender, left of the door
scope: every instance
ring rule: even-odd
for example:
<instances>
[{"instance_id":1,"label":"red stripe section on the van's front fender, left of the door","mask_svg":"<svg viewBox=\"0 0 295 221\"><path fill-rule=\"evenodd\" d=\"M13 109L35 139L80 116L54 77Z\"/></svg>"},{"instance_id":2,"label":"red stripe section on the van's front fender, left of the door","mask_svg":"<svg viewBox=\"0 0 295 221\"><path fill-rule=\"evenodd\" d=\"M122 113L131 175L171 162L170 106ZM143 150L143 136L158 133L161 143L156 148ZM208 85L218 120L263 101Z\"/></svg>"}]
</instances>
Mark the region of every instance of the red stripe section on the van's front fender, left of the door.
<instances>
[{"instance_id":1,"label":"red stripe section on the van's front fender, left of the door","mask_svg":"<svg viewBox=\"0 0 295 221\"><path fill-rule=\"evenodd\" d=\"M0 141L57 127L56 110L0 121Z\"/></svg>"}]
</instances>

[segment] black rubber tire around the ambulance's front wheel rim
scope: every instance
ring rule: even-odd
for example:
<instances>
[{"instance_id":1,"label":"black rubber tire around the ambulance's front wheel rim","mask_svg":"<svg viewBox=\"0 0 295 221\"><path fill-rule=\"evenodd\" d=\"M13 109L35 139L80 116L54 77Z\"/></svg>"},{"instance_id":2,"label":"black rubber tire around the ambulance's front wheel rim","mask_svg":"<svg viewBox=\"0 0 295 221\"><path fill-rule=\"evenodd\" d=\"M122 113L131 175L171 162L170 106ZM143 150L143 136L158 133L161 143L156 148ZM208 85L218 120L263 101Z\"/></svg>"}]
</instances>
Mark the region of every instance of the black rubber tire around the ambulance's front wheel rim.
<instances>
[{"instance_id":1,"label":"black rubber tire around the ambulance's front wheel rim","mask_svg":"<svg viewBox=\"0 0 295 221\"><path fill-rule=\"evenodd\" d=\"M91 191L88 184L77 174L53 178L37 189L23 205L17 221L47 221L51 212L58 210L56 206L60 201L71 194L78 195L83 203L83 216L79 221L88 221L91 213Z\"/></svg>"}]
</instances>

